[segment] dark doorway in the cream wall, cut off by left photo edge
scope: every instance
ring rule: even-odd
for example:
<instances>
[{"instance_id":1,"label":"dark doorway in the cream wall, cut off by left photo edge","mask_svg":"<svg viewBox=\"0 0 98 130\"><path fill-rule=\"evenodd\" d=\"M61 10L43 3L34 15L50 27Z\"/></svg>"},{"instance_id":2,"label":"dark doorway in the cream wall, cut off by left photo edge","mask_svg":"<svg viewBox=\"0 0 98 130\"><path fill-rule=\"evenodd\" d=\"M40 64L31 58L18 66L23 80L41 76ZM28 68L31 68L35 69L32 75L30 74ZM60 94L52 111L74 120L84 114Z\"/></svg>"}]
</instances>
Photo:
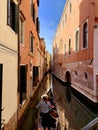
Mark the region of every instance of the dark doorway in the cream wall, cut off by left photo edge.
<instances>
[{"instance_id":1,"label":"dark doorway in the cream wall, cut off by left photo edge","mask_svg":"<svg viewBox=\"0 0 98 130\"><path fill-rule=\"evenodd\" d=\"M0 64L0 130L1 130L1 112L2 112L2 68L3 65Z\"/></svg>"}]
</instances>

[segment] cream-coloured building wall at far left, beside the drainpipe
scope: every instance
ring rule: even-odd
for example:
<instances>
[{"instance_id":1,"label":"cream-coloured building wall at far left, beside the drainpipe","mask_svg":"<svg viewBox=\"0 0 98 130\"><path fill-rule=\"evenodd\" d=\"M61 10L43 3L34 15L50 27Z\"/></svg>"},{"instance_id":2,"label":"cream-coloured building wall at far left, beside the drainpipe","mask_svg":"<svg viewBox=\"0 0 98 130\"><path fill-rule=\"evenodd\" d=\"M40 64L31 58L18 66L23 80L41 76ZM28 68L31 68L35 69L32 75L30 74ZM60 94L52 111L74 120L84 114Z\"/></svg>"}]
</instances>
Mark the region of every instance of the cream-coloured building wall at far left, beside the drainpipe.
<instances>
[{"instance_id":1,"label":"cream-coloured building wall at far left, beside the drainpipe","mask_svg":"<svg viewBox=\"0 0 98 130\"><path fill-rule=\"evenodd\" d=\"M0 129L17 119L18 1L0 1ZM7 130L8 126L6 126Z\"/></svg>"}]
</instances>

